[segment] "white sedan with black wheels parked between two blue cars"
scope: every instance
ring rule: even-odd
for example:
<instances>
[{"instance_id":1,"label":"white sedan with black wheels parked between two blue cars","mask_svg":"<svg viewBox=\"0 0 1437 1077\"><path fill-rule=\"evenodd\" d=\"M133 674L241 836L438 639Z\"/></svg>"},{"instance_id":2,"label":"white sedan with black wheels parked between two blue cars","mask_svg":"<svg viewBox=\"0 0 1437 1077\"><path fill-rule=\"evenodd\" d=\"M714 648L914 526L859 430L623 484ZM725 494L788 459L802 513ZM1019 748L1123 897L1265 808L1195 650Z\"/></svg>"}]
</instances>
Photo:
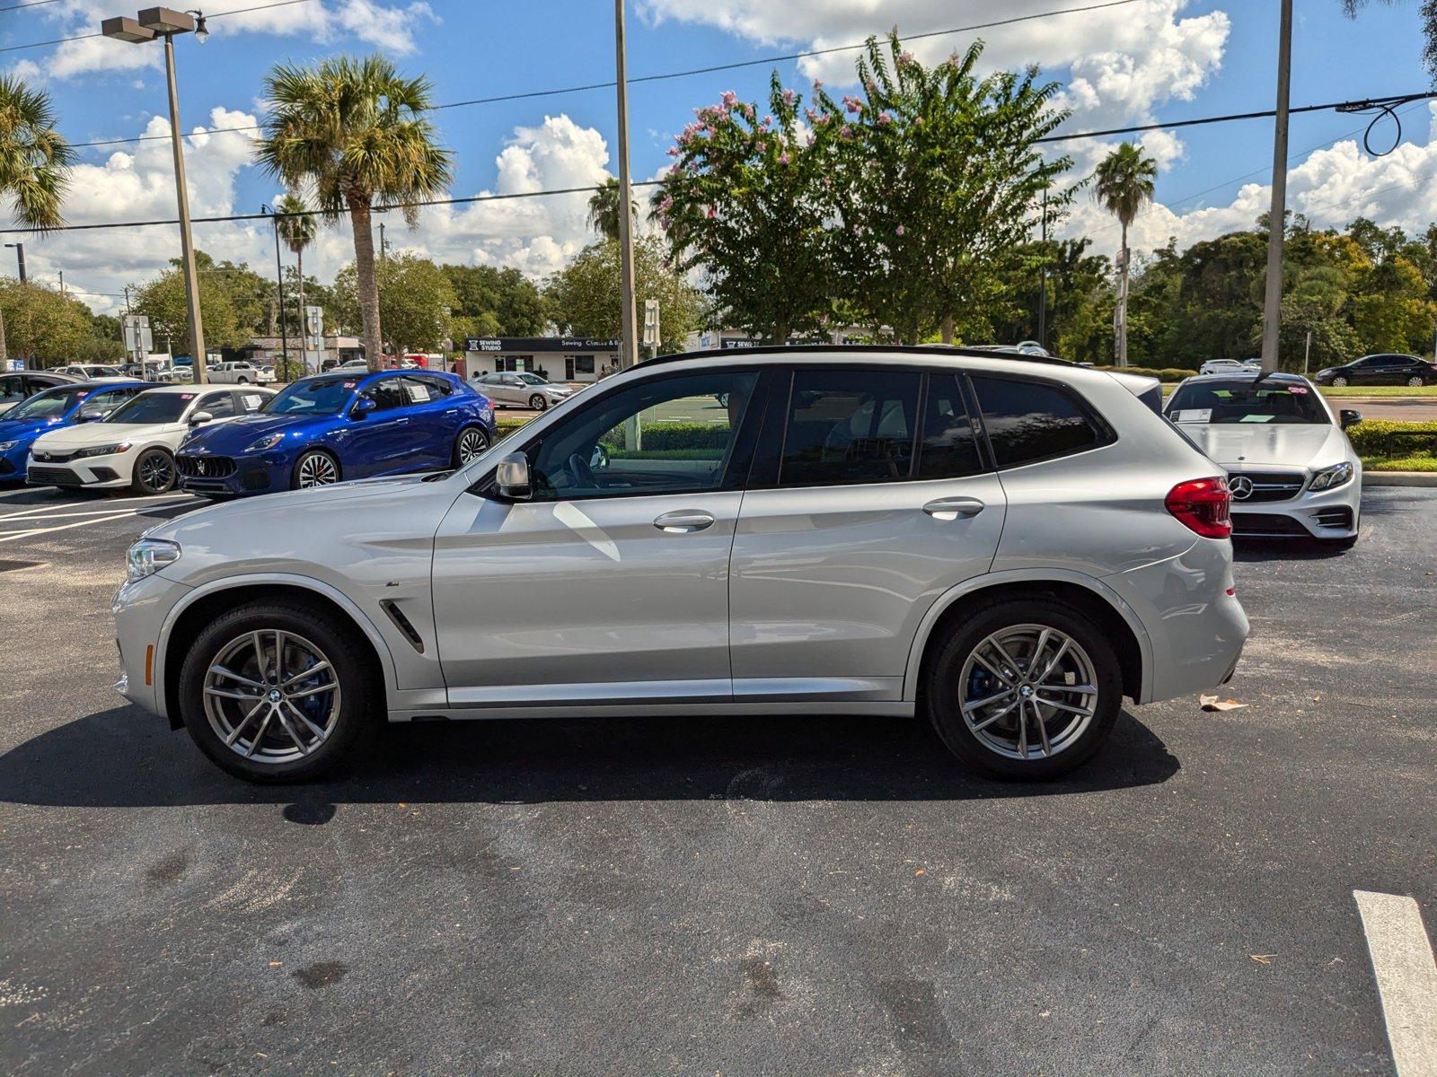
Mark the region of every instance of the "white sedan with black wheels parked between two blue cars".
<instances>
[{"instance_id":1,"label":"white sedan with black wheels parked between two blue cars","mask_svg":"<svg viewBox=\"0 0 1437 1077\"><path fill-rule=\"evenodd\" d=\"M175 449L194 428L264 406L259 386L211 389L162 385L132 396L108 418L42 434L30 447L26 481L37 487L162 494L175 484Z\"/></svg>"}]
</instances>

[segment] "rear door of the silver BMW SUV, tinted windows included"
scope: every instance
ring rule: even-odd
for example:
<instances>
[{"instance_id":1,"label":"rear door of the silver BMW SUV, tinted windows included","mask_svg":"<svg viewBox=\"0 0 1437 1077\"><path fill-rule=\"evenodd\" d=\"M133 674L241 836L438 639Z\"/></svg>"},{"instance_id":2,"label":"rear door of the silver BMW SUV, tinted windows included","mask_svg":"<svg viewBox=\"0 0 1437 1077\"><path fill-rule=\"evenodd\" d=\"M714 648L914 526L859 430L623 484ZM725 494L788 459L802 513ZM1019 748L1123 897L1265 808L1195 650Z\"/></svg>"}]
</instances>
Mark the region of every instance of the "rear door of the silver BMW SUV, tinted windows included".
<instances>
[{"instance_id":1,"label":"rear door of the silver BMW SUV, tinted windows included","mask_svg":"<svg viewBox=\"0 0 1437 1077\"><path fill-rule=\"evenodd\" d=\"M986 573L1003 488L951 369L798 366L734 534L734 698L897 701L918 625Z\"/></svg>"}]
</instances>

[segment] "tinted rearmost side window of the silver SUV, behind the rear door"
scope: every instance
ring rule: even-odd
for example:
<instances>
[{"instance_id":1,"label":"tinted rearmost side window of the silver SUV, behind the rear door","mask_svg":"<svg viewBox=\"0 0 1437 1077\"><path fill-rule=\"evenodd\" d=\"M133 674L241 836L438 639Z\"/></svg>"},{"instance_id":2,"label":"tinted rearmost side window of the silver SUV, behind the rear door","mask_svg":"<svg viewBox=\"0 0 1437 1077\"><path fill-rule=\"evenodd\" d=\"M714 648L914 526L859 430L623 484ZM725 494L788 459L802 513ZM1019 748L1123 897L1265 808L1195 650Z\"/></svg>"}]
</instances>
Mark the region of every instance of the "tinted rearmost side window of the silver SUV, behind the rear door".
<instances>
[{"instance_id":1,"label":"tinted rearmost side window of the silver SUV, behind the rear door","mask_svg":"<svg viewBox=\"0 0 1437 1077\"><path fill-rule=\"evenodd\" d=\"M981 375L973 388L999 467L1081 452L1102 441L1078 402L1058 388Z\"/></svg>"}]
</instances>

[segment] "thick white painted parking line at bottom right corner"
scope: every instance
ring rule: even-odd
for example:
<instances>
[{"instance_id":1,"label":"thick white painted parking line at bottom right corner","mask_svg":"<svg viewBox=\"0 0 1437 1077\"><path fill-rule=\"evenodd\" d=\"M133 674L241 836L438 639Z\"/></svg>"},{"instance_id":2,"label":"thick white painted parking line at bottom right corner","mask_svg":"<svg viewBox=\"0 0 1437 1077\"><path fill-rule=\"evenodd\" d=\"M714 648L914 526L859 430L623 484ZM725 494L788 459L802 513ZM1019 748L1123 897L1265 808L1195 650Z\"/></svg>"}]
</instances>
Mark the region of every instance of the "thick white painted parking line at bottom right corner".
<instances>
[{"instance_id":1,"label":"thick white painted parking line at bottom right corner","mask_svg":"<svg viewBox=\"0 0 1437 1077\"><path fill-rule=\"evenodd\" d=\"M1437 1074L1437 962L1417 902L1354 890L1398 1077Z\"/></svg>"}]
</instances>

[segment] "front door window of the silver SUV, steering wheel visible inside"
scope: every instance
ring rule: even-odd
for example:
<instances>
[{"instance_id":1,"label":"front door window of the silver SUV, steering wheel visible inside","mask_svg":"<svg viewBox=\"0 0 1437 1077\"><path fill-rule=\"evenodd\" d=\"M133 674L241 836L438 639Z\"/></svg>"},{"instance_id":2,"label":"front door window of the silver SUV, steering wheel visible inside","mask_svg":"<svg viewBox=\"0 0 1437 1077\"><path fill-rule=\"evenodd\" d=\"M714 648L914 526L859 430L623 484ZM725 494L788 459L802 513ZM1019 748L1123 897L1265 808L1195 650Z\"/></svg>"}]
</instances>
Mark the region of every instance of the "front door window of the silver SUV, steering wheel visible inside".
<instances>
[{"instance_id":1,"label":"front door window of the silver SUV, steering wheel visible inside","mask_svg":"<svg viewBox=\"0 0 1437 1077\"><path fill-rule=\"evenodd\" d=\"M532 452L535 498L716 490L756 383L752 372L685 375L604 398Z\"/></svg>"}]
</instances>

